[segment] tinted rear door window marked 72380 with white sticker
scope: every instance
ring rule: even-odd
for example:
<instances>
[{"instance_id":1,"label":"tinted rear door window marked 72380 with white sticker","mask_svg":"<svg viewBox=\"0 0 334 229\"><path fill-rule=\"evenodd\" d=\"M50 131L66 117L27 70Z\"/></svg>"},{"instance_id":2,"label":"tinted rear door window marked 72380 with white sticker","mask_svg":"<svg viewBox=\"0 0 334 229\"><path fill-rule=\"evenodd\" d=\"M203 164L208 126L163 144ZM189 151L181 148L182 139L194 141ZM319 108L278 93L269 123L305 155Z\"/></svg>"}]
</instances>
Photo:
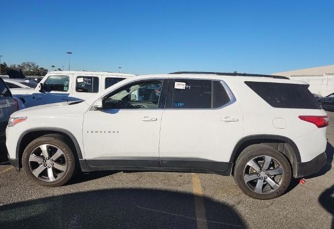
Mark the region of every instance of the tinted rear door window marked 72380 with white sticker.
<instances>
[{"instance_id":1,"label":"tinted rear door window marked 72380 with white sticker","mask_svg":"<svg viewBox=\"0 0 334 229\"><path fill-rule=\"evenodd\" d=\"M210 109L230 101L220 81L175 79L171 107L174 109Z\"/></svg>"}]
</instances>

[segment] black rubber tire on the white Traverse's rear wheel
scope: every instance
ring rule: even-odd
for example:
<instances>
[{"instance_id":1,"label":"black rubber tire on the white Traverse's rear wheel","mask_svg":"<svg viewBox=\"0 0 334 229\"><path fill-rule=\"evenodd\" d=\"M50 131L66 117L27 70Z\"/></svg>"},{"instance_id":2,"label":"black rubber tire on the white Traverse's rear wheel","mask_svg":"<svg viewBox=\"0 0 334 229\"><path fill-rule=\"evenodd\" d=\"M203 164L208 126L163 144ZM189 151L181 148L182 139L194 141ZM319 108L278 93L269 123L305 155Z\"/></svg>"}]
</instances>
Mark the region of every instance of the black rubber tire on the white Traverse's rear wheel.
<instances>
[{"instance_id":1,"label":"black rubber tire on the white Traverse's rear wheel","mask_svg":"<svg viewBox=\"0 0 334 229\"><path fill-rule=\"evenodd\" d=\"M250 162L253 158L255 158L255 161L256 161L256 158L259 159L260 158L260 162L259 163L264 163L264 160L263 162L261 161L261 158L265 158L265 157L261 157L261 156L269 156L269 157L272 157L273 160L271 161L271 165L275 165L275 164L280 164L280 166L277 166L277 168L282 168L283 171L280 175L278 175L278 177L274 177L274 176L266 176L265 175L265 172L262 172L259 173L258 172L255 172L255 170L252 170L253 172L251 174L254 174L254 177L259 176L259 178L255 178L254 180L251 180L249 182L246 183L246 181L244 180L244 172L251 168L249 166L249 164L247 165L248 162ZM268 158L268 157L267 157ZM263 168L264 167L264 164L257 164L260 166L260 168ZM276 169L277 169L276 168ZM268 169L266 172L270 172L270 169ZM261 178L262 177L262 178ZM267 177L267 179L265 179L265 177ZM271 180L274 180L276 181L275 179L279 179L279 187L275 190L274 188L272 188L270 185L269 185L269 182L267 182L267 180L269 178L271 178ZM262 182L264 182L262 189L263 193L258 193L258 192L255 192L255 185L258 184L258 180L259 179L263 179ZM279 151L277 151L276 149L272 148L272 147L269 147L269 146L266 146L266 145L263 145L263 144L258 144L258 145L251 145L247 148L245 148L241 154L239 155L238 159L237 159L237 162L236 162L236 166L235 166L235 169L234 169L234 179L237 183L237 185L239 186L239 188L248 196L254 198L254 199L273 199L273 198L276 198L280 195L282 195L286 190L287 188L289 187L290 185L290 181L291 181L291 166L287 160L287 158L282 154L280 153ZM251 184L250 184L251 182ZM252 184L254 184L252 186ZM262 184L262 183L260 183ZM259 185L260 186L260 185ZM266 191L264 192L264 190L268 190L269 191ZM270 190L272 189L272 190Z\"/></svg>"}]
</instances>

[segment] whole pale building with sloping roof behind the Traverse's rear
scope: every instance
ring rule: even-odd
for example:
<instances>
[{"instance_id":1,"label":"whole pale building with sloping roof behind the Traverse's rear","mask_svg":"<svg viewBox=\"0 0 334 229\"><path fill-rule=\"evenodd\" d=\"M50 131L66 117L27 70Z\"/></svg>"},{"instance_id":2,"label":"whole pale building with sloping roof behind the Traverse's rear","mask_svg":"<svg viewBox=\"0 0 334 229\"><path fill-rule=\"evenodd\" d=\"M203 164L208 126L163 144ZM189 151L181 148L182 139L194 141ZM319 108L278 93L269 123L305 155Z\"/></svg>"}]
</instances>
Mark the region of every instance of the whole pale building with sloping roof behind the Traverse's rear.
<instances>
[{"instance_id":1,"label":"whole pale building with sloping roof behind the Traverse's rear","mask_svg":"<svg viewBox=\"0 0 334 229\"><path fill-rule=\"evenodd\" d=\"M313 94L327 96L334 93L334 64L273 73L271 75L286 76L294 80L305 81L310 84L309 89Z\"/></svg>"}]
</instances>

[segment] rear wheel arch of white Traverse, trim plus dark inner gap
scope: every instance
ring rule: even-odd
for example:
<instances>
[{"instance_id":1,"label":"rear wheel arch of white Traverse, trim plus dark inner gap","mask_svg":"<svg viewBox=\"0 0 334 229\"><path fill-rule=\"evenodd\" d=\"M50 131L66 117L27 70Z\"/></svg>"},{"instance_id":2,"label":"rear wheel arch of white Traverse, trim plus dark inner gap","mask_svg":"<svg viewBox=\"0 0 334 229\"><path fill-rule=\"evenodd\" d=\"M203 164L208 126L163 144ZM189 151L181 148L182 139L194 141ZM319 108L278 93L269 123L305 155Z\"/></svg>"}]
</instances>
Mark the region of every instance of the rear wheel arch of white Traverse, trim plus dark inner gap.
<instances>
[{"instance_id":1,"label":"rear wheel arch of white Traverse, trim plus dark inner gap","mask_svg":"<svg viewBox=\"0 0 334 229\"><path fill-rule=\"evenodd\" d=\"M256 134L242 138L234 147L229 162L236 163L240 153L248 146L265 144L285 155L291 165L293 176L297 175L297 163L301 162L297 145L289 138L281 135Z\"/></svg>"}]
</instances>

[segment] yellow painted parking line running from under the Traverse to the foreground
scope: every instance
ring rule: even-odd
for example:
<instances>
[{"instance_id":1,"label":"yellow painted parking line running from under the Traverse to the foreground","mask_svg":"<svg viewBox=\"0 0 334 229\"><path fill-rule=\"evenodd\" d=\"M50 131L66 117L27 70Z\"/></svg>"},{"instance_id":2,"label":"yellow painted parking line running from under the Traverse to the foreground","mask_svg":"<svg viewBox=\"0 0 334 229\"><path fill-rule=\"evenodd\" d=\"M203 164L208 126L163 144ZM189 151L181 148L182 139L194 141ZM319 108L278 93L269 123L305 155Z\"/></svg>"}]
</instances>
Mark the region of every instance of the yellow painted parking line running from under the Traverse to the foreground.
<instances>
[{"instance_id":1,"label":"yellow painted parking line running from under the Traverse to the foreground","mask_svg":"<svg viewBox=\"0 0 334 229\"><path fill-rule=\"evenodd\" d=\"M197 229L208 229L207 215L205 214L203 192L199 175L192 173L193 192L195 196L195 214Z\"/></svg>"}]
</instances>

